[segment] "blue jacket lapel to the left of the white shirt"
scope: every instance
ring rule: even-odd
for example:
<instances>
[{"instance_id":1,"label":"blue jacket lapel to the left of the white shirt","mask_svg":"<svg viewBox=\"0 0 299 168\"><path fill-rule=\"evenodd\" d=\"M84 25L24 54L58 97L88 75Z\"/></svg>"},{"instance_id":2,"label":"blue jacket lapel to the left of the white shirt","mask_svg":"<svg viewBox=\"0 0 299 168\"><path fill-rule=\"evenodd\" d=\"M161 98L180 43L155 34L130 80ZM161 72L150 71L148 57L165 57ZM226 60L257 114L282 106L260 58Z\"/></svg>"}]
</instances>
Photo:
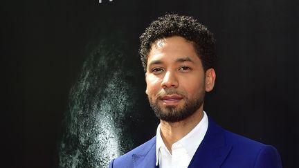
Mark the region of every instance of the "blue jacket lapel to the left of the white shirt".
<instances>
[{"instance_id":1,"label":"blue jacket lapel to the left of the white shirt","mask_svg":"<svg viewBox=\"0 0 299 168\"><path fill-rule=\"evenodd\" d=\"M156 167L156 136L144 145L143 149L132 155L134 167Z\"/></svg>"}]
</instances>

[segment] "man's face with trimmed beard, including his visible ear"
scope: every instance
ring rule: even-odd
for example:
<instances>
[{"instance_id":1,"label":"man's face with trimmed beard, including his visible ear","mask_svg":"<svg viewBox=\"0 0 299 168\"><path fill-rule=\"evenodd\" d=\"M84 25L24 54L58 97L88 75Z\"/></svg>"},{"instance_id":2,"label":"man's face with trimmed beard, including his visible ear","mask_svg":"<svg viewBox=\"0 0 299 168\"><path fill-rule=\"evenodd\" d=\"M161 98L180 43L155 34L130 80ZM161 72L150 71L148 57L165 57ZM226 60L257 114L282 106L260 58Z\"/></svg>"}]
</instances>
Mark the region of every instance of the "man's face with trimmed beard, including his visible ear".
<instances>
[{"instance_id":1,"label":"man's face with trimmed beard, including his visible ear","mask_svg":"<svg viewBox=\"0 0 299 168\"><path fill-rule=\"evenodd\" d=\"M205 91L214 86L215 72L209 69L208 75L210 71L214 78L205 75L192 43L183 37L156 41L147 58L145 80L149 103L157 117L179 122L202 111Z\"/></svg>"}]
</instances>

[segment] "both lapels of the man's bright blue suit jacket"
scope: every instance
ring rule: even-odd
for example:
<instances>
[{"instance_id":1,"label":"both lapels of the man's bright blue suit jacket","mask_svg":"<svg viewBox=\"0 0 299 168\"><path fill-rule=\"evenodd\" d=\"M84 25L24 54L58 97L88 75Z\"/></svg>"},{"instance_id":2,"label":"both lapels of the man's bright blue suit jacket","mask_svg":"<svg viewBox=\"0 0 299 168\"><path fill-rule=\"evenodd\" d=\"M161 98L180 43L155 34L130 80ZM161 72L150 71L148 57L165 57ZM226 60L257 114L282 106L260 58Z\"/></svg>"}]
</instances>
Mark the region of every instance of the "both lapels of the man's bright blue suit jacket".
<instances>
[{"instance_id":1,"label":"both lapels of the man's bright blue suit jacket","mask_svg":"<svg viewBox=\"0 0 299 168\"><path fill-rule=\"evenodd\" d=\"M226 144L224 129L221 129L209 118L206 136L195 152L188 168L220 167L230 149L231 146ZM135 168L156 167L156 136L144 144L143 149L138 151L138 153L132 155Z\"/></svg>"}]
</instances>

